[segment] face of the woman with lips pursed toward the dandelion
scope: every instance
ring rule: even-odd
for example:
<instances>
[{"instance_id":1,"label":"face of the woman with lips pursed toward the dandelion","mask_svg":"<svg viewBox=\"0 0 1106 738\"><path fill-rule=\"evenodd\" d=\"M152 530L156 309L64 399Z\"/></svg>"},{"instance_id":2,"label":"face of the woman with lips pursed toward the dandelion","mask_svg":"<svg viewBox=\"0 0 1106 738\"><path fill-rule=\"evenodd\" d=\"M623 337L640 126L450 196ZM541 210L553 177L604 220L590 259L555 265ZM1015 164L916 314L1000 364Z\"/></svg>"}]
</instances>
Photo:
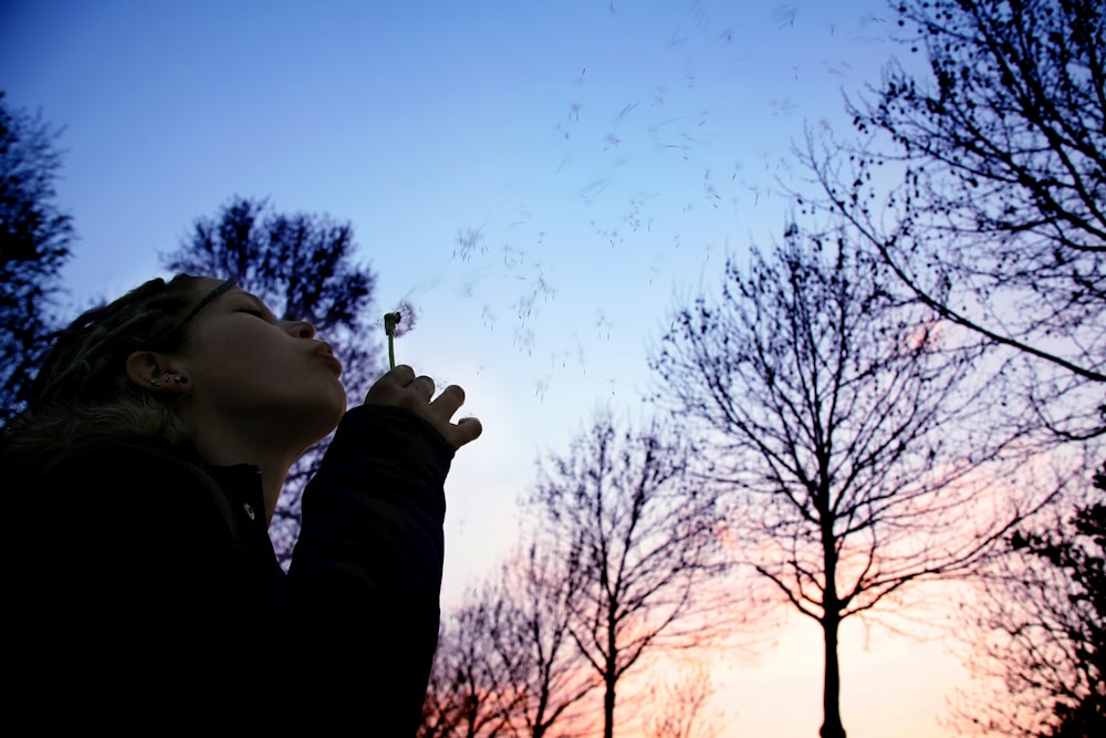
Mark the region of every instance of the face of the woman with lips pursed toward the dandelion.
<instances>
[{"instance_id":1,"label":"face of the woman with lips pursed toward the dandelion","mask_svg":"<svg viewBox=\"0 0 1106 738\"><path fill-rule=\"evenodd\" d=\"M220 283L197 280L197 299ZM220 435L306 448L337 426L346 408L342 364L310 323L278 320L258 298L232 287L187 330L175 356L188 373L189 420L200 434L217 423Z\"/></svg>"}]
</instances>

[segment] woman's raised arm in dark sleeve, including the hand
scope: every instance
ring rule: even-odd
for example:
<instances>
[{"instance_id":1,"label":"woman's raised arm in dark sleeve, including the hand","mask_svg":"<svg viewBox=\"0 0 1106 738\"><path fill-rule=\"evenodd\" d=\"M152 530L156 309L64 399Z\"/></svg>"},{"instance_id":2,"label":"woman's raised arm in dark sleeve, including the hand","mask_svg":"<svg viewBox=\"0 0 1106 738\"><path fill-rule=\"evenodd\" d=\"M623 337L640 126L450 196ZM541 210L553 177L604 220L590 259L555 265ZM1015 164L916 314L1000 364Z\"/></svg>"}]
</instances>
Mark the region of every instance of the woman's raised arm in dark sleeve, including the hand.
<instances>
[{"instance_id":1,"label":"woman's raised arm in dark sleeve, including the hand","mask_svg":"<svg viewBox=\"0 0 1106 738\"><path fill-rule=\"evenodd\" d=\"M406 373L414 377L389 372L343 418L304 490L289 570L320 714L389 736L414 735L421 719L438 637L442 488L453 444L479 435L476 420L449 420L459 388L434 407L432 383Z\"/></svg>"}]
</instances>

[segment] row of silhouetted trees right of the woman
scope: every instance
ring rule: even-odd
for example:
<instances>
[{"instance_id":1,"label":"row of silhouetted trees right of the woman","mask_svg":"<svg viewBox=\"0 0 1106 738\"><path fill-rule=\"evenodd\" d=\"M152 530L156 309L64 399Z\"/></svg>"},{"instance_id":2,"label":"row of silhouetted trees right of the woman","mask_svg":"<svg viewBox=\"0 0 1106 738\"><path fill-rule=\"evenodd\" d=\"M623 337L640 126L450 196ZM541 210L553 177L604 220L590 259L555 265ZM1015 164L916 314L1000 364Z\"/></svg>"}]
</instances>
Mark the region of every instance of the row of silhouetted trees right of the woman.
<instances>
[{"instance_id":1,"label":"row of silhouetted trees right of the woman","mask_svg":"<svg viewBox=\"0 0 1106 738\"><path fill-rule=\"evenodd\" d=\"M810 132L795 158L814 187L790 193L780 241L674 305L650 352L643 403L674 425L645 437L693 449L658 500L698 508L709 545L689 550L709 557L653 572L659 607L622 599L640 580L626 562L684 533L646 534L664 502L616 481L644 462L608 471L598 441L643 432L596 420L549 459L519 552L447 621L424 736L613 736L615 687L646 651L706 648L790 605L822 628L820 735L843 738L842 622L942 580L978 595L950 625L994 677L960 695L951 730L1106 728L1102 8L890 7L930 74L890 63L847 101L853 135ZM634 500L637 540L614 524ZM637 726L714 735L705 694L636 703Z\"/></svg>"}]
</instances>

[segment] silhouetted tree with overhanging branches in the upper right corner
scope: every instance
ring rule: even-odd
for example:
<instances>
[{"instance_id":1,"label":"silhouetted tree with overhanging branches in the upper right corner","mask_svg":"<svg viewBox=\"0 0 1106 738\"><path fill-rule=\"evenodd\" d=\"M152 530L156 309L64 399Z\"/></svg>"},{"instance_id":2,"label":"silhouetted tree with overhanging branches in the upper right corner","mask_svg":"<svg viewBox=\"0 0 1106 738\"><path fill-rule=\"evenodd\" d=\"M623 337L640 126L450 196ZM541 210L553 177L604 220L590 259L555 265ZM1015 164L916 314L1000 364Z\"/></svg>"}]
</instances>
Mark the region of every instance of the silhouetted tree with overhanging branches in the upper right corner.
<instances>
[{"instance_id":1,"label":"silhouetted tree with overhanging branches in the upper right corner","mask_svg":"<svg viewBox=\"0 0 1106 738\"><path fill-rule=\"evenodd\" d=\"M848 166L813 146L808 164L909 294L1030 358L1025 395L1056 434L1106 433L1100 0L890 4L931 74L891 64L849 103L870 138Z\"/></svg>"}]
</instances>

